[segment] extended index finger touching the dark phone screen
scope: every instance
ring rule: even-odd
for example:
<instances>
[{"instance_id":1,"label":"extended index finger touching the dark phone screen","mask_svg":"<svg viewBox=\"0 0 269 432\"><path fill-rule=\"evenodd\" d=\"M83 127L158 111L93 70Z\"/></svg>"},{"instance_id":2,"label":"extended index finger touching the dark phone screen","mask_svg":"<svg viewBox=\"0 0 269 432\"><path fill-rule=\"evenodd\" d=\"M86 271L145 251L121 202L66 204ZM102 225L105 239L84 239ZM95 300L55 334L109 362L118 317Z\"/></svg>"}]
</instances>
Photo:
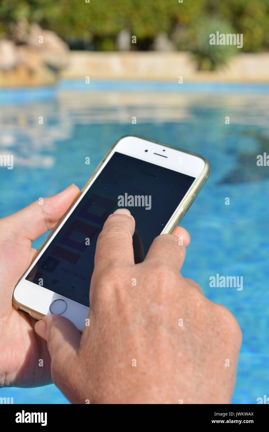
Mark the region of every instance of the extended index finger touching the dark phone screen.
<instances>
[{"instance_id":1,"label":"extended index finger touching the dark phone screen","mask_svg":"<svg viewBox=\"0 0 269 432\"><path fill-rule=\"evenodd\" d=\"M99 234L95 249L95 269L111 264L134 264L133 233L135 220L127 209L117 209L108 216Z\"/></svg>"}]
</instances>

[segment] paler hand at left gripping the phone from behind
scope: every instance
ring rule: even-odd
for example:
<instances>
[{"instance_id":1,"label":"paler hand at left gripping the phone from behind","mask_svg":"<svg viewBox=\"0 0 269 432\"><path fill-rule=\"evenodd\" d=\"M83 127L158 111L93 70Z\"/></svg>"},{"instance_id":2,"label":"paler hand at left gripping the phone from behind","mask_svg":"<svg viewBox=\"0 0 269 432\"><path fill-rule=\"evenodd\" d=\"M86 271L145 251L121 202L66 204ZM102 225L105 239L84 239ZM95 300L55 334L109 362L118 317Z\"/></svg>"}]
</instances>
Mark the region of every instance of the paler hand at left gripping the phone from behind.
<instances>
[{"instance_id":1,"label":"paler hand at left gripping the phone from behind","mask_svg":"<svg viewBox=\"0 0 269 432\"><path fill-rule=\"evenodd\" d=\"M13 289L31 264L31 242L54 228L79 188L69 188L0 219L0 387L36 387L51 383L47 343L34 330L36 320L12 307ZM38 360L44 359L44 367Z\"/></svg>"}]
</instances>

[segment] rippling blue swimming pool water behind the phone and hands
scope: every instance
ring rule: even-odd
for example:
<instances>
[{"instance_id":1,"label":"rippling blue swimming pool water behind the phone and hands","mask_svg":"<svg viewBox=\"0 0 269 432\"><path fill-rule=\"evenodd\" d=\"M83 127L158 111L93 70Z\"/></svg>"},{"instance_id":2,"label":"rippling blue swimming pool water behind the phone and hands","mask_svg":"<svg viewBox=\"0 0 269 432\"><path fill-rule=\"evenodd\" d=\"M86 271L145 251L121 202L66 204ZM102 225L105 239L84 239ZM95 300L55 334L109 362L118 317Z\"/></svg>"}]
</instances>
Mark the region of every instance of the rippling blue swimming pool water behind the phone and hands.
<instances>
[{"instance_id":1,"label":"rippling blue swimming pool water behind the phone and hands","mask_svg":"<svg viewBox=\"0 0 269 432\"><path fill-rule=\"evenodd\" d=\"M13 170L0 168L1 217L73 182L82 187L125 134L210 160L209 180L181 222L191 235L182 272L241 326L233 403L269 397L269 167L256 166L256 156L269 152L268 120L265 85L63 81L55 88L0 91L0 154L14 155ZM216 273L243 276L243 290L210 288ZM54 385L2 389L1 396L14 403L68 403Z\"/></svg>"}]
</instances>

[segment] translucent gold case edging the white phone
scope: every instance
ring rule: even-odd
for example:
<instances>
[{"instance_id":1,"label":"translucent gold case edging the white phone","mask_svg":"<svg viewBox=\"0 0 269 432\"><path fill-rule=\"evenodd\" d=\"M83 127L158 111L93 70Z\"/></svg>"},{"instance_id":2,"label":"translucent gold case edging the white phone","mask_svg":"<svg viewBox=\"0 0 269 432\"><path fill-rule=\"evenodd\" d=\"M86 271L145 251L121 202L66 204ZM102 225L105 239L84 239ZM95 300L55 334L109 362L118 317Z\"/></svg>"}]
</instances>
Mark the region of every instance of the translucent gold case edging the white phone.
<instances>
[{"instance_id":1,"label":"translucent gold case edging the white phone","mask_svg":"<svg viewBox=\"0 0 269 432\"><path fill-rule=\"evenodd\" d=\"M136 138L140 138L142 140L145 141L149 141L151 143L155 143L155 144L160 144L161 146L165 146L168 147L170 149L175 149L175 150L179 150L180 152L183 153L188 153L190 155L199 157L200 159L203 159L203 161L205 162L205 167L203 169L203 172L200 174L200 176L196 179L196 181L193 183L193 186L190 188L189 193L187 194L187 196L184 198L184 201L181 203L179 209L177 210L177 212L174 214L173 218L171 219L171 221L169 222L168 226L166 227L165 231L163 232L163 234L170 234L171 232L174 231L174 229L177 227L177 225L179 224L180 220L183 218L184 214L187 212L187 210L190 208L191 204L193 203L193 201L195 200L198 192L200 191L200 189L202 188L203 184L206 182L206 180L208 179L208 176L210 174L210 170L211 170L211 165L208 159L206 159L204 156L198 155L197 153L193 153L193 152L189 152L187 150L183 150L183 149L179 149L178 147L174 147L174 146L169 146L168 144L164 144L164 143L160 143L158 141L155 140L150 140L149 138L145 138L145 137L141 137L139 135L124 135L123 137L119 138L111 147L111 149L108 151L108 153L104 156L104 158L101 160L101 162L99 163L98 167L95 169L95 171L92 173L91 177L89 178L89 180L85 183L85 185L82 187L81 191L79 192L78 196L75 198L75 200L73 201L73 203L71 204L71 206L69 207L69 209L66 211L66 213L64 213L64 215L62 216L62 218L60 219L60 221L57 223L57 226L55 226L55 228L51 231L51 233L48 235L48 237L46 238L46 240L44 241L44 243L41 245L41 247L38 249L37 253L35 254L35 256L33 257L33 260L35 260L35 258L41 254L44 246L47 244L47 242L50 240L51 236L53 235L54 231L58 228L58 226L60 225L60 223L63 221L63 219L65 218L66 214L70 211L70 209L73 207L73 205L76 203L76 201L79 199L80 195L85 191L86 187L88 187L89 183L92 181L92 179L95 177L95 175L98 173L98 171L100 170L101 166L104 164L104 162L106 161L106 159L108 158L108 156L110 155L110 153L112 152L112 150L114 149L114 147L117 145L117 143L122 140L123 138L126 137L136 137ZM33 261L32 260L32 261ZM30 267L30 266L29 266ZM27 269L28 270L28 269ZM25 270L25 273L27 272L27 270ZM16 283L16 286L18 285L19 281L22 280L22 278L24 277L25 273L23 273L22 277L18 280L18 282ZM14 289L16 288L16 286L14 287ZM12 297L12 305L14 308L22 310L27 312L29 315L31 315L33 318L35 318L36 320L40 320L41 318L43 318L45 315L39 313L38 311L35 311L31 308L29 308L26 305L22 305L21 303L17 302L14 298L14 295Z\"/></svg>"}]
</instances>

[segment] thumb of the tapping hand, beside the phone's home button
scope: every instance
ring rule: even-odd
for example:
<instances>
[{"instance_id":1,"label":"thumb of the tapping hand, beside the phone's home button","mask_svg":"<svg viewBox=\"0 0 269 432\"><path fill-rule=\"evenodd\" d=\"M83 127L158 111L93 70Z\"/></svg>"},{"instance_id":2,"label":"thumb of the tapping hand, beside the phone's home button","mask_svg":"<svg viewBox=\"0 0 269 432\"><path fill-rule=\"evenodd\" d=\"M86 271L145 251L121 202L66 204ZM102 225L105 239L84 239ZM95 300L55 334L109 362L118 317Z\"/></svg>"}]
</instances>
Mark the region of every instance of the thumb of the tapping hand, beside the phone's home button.
<instances>
[{"instance_id":1,"label":"thumb of the tapping hand, beside the phone's home button","mask_svg":"<svg viewBox=\"0 0 269 432\"><path fill-rule=\"evenodd\" d=\"M74 389L80 373L77 358L81 339L79 330L67 318L51 314L36 322L35 331L47 341L54 384L71 402L75 402Z\"/></svg>"}]
</instances>

